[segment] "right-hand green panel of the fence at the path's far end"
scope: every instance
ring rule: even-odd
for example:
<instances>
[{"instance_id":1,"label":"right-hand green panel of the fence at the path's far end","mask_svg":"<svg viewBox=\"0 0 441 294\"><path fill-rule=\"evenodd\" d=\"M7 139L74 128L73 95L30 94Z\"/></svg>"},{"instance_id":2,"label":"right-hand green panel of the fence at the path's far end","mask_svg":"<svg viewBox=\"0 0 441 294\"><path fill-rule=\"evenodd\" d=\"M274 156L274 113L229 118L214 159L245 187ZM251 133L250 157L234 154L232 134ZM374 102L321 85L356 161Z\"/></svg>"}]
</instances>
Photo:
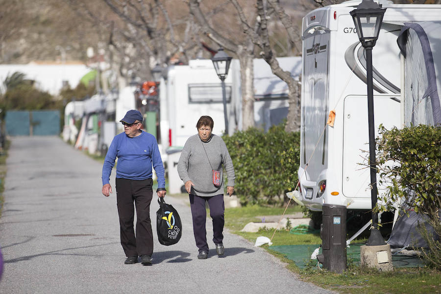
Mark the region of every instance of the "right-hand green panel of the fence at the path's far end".
<instances>
[{"instance_id":1,"label":"right-hand green panel of the fence at the path's far end","mask_svg":"<svg viewBox=\"0 0 441 294\"><path fill-rule=\"evenodd\" d=\"M33 110L32 134L49 136L60 134L60 112L58 110Z\"/></svg>"}]
</instances>

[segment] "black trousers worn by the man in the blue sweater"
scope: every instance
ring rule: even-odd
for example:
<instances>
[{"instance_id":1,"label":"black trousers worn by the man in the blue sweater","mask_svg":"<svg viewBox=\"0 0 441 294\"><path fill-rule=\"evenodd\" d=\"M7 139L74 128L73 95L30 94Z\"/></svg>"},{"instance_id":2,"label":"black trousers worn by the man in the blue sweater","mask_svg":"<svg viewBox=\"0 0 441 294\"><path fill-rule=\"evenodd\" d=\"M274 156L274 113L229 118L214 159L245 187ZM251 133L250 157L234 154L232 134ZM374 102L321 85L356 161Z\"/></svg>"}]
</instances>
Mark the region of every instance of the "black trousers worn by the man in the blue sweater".
<instances>
[{"instance_id":1,"label":"black trousers worn by the man in the blue sweater","mask_svg":"<svg viewBox=\"0 0 441 294\"><path fill-rule=\"evenodd\" d=\"M150 202L153 196L153 180L129 180L117 178L117 206L120 216L121 245L125 256L153 253L153 234L150 221ZM136 207L136 237L133 219Z\"/></svg>"}]
</instances>

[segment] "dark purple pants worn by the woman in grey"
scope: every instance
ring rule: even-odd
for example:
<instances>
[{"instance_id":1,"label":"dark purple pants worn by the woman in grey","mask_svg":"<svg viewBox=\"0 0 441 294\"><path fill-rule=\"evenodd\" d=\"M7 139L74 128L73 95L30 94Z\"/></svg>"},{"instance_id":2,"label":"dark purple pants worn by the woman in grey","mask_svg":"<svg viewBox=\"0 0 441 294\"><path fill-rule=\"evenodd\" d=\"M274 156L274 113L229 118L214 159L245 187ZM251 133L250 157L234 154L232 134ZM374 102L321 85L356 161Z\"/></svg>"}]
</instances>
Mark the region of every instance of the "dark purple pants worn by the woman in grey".
<instances>
[{"instance_id":1,"label":"dark purple pants worn by the woman in grey","mask_svg":"<svg viewBox=\"0 0 441 294\"><path fill-rule=\"evenodd\" d=\"M190 207L192 209L193 233L195 234L196 246L201 251L208 252L207 230L205 228L205 220L207 219L207 211L205 210L205 202L208 202L210 208L210 217L213 220L213 242L215 244L222 243L223 240L223 224L224 211L223 194L203 197L190 194Z\"/></svg>"}]
</instances>

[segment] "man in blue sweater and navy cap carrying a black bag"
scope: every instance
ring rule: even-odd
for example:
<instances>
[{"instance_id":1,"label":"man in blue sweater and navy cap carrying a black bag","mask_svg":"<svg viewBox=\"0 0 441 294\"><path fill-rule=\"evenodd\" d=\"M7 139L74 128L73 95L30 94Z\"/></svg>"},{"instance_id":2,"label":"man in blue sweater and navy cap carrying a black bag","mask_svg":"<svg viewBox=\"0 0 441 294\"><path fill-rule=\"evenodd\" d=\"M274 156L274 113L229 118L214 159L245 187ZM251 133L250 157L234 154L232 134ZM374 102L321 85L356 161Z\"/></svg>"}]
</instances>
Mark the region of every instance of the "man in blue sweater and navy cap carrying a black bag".
<instances>
[{"instance_id":1,"label":"man in blue sweater and navy cap carrying a black bag","mask_svg":"<svg viewBox=\"0 0 441 294\"><path fill-rule=\"evenodd\" d=\"M110 173L118 157L116 191L120 218L121 245L127 259L124 264L135 264L138 256L144 266L151 266L153 233L150 221L150 202L153 197L152 166L155 169L158 197L166 195L164 165L158 143L153 135L141 129L143 116L129 110L120 121L124 132L113 138L102 167L102 194L112 193ZM133 229L136 207L136 235Z\"/></svg>"}]
</instances>

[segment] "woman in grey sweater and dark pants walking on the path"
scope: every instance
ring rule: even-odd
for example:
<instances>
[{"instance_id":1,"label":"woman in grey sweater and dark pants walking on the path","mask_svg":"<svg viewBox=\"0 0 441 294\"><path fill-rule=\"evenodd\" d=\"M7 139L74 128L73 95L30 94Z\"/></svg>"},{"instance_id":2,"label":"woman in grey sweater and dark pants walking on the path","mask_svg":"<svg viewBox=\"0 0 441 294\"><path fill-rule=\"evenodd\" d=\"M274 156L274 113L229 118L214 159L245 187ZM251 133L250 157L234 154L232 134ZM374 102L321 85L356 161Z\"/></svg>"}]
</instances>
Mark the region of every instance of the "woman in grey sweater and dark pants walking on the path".
<instances>
[{"instance_id":1,"label":"woman in grey sweater and dark pants walking on the path","mask_svg":"<svg viewBox=\"0 0 441 294\"><path fill-rule=\"evenodd\" d=\"M212 134L213 119L201 116L196 123L197 134L191 136L184 145L177 171L190 195L190 206L193 218L193 232L196 246L199 248L198 259L208 257L207 232L205 220L208 202L210 217L213 220L213 242L218 255L223 255L223 172L227 172L227 193L234 192L234 168L228 149L222 138Z\"/></svg>"}]
</instances>

